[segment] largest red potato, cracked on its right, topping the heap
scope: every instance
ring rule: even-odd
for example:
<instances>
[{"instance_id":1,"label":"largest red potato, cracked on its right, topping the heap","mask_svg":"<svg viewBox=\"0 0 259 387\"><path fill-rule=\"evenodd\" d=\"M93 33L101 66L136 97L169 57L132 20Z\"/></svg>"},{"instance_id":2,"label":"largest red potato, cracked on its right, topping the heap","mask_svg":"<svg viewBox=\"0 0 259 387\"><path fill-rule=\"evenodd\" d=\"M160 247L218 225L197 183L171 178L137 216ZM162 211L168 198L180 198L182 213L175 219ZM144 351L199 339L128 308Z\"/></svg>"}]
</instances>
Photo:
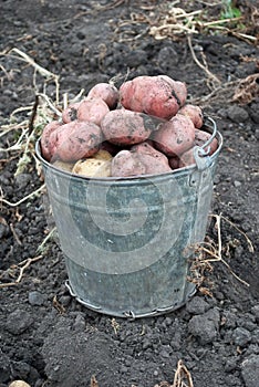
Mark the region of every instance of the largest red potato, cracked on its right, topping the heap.
<instances>
[{"instance_id":1,"label":"largest red potato, cracked on its right, topping the heap","mask_svg":"<svg viewBox=\"0 0 259 387\"><path fill-rule=\"evenodd\" d=\"M120 96L127 109L169 119L184 105L187 88L166 75L143 75L122 84Z\"/></svg>"}]
</instances>

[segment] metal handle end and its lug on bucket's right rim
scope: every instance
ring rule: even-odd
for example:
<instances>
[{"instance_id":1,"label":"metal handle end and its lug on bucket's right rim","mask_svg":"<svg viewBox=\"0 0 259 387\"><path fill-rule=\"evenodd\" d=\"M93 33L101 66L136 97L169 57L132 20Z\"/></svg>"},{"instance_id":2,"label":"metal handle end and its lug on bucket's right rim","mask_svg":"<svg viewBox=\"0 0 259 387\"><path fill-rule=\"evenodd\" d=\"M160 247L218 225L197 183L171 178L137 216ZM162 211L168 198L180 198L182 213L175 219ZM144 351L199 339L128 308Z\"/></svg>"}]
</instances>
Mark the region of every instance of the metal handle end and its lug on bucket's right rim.
<instances>
[{"instance_id":1,"label":"metal handle end and its lug on bucket's right rim","mask_svg":"<svg viewBox=\"0 0 259 387\"><path fill-rule=\"evenodd\" d=\"M195 157L195 161L198 170L207 169L213 164L213 159L209 156L210 144L218 133L215 121L210 117L206 117L206 119L210 121L210 123L213 124L213 134L203 146L194 147L194 157Z\"/></svg>"}]
</instances>

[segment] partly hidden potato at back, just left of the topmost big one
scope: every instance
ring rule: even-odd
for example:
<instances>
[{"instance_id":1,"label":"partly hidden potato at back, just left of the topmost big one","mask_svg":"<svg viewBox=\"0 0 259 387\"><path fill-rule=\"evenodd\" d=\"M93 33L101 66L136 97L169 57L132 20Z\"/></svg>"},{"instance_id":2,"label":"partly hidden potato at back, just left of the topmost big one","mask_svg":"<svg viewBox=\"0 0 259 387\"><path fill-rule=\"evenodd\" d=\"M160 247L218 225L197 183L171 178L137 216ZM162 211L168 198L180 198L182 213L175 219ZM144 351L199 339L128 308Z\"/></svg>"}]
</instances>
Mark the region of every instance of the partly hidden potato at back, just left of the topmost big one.
<instances>
[{"instance_id":1,"label":"partly hidden potato at back, just left of the topmost big one","mask_svg":"<svg viewBox=\"0 0 259 387\"><path fill-rule=\"evenodd\" d=\"M90 90L87 97L102 98L111 109L114 109L118 103L118 90L110 83L102 82Z\"/></svg>"}]
</instances>

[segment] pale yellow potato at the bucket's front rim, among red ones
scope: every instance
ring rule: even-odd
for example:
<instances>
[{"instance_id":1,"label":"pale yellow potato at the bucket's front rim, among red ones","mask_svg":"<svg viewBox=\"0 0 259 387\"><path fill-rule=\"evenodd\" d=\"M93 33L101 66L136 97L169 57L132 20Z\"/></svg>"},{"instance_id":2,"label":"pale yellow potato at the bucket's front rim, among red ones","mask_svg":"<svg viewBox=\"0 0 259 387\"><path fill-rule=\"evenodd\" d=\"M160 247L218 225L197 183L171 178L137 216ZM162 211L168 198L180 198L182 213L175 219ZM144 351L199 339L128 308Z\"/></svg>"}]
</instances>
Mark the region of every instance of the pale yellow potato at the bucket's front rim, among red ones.
<instances>
[{"instance_id":1,"label":"pale yellow potato at the bucket's front rim, among red ones","mask_svg":"<svg viewBox=\"0 0 259 387\"><path fill-rule=\"evenodd\" d=\"M104 160L97 158L86 158L79 160L72 170L73 174L85 177L110 177L112 160Z\"/></svg>"}]
</instances>

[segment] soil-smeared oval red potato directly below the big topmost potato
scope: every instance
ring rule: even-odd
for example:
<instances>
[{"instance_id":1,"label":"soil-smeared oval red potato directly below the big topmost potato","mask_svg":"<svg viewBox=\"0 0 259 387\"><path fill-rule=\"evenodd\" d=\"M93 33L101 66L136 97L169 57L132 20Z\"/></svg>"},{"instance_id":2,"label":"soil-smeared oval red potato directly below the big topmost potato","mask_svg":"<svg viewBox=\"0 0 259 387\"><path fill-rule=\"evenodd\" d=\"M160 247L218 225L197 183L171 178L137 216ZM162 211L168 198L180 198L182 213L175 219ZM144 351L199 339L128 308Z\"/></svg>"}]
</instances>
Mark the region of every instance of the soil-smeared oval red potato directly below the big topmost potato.
<instances>
[{"instance_id":1,"label":"soil-smeared oval red potato directly below the big topmost potato","mask_svg":"<svg viewBox=\"0 0 259 387\"><path fill-rule=\"evenodd\" d=\"M143 113L127 109L111 111L101 123L104 137L112 144L132 145L147 139L162 122Z\"/></svg>"}]
</instances>

